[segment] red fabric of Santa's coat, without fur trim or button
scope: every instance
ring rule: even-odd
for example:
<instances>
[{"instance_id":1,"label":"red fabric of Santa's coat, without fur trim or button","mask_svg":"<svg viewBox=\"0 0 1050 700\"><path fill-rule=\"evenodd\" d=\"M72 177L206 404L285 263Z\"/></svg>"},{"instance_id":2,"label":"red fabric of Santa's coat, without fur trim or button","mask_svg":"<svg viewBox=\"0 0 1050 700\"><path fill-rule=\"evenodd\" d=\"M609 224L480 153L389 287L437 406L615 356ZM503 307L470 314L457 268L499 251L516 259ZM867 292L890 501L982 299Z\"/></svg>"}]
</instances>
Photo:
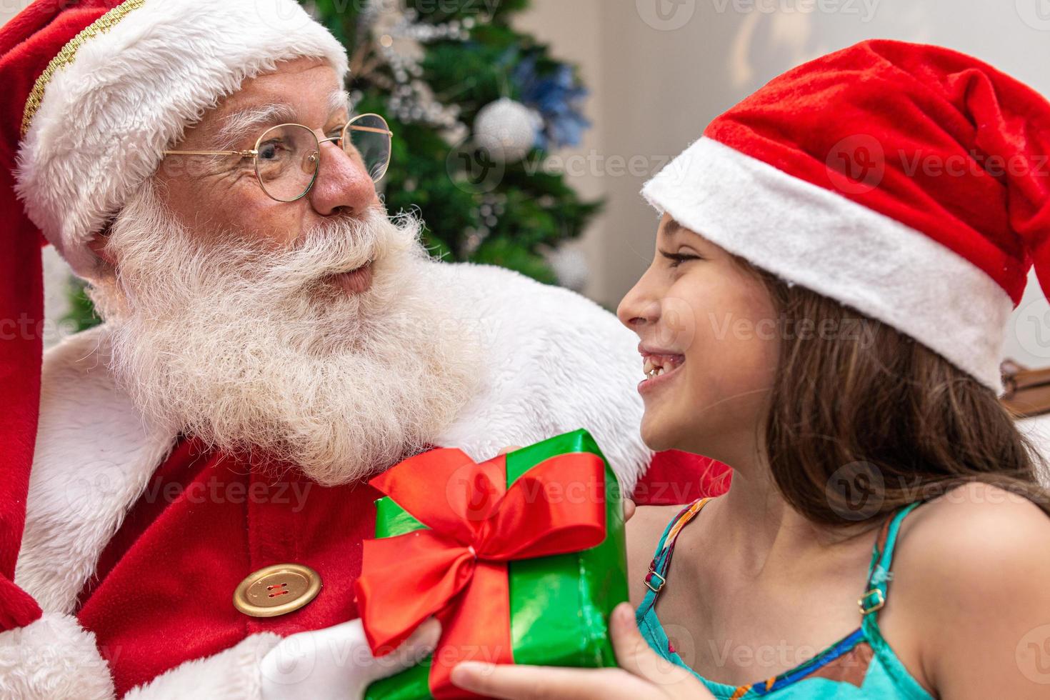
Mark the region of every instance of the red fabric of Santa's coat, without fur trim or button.
<instances>
[{"instance_id":1,"label":"red fabric of Santa's coat, without fur trim or button","mask_svg":"<svg viewBox=\"0 0 1050 700\"><path fill-rule=\"evenodd\" d=\"M637 493L693 499L716 492L718 470L709 466L662 452L652 481L644 480ZM182 441L103 550L97 578L81 596L77 616L94 633L118 695L255 633L287 636L356 618L353 582L380 495L366 484L326 488L295 470L267 478ZM233 590L247 574L285 563L319 574L316 598L279 617L234 609Z\"/></svg>"}]
</instances>

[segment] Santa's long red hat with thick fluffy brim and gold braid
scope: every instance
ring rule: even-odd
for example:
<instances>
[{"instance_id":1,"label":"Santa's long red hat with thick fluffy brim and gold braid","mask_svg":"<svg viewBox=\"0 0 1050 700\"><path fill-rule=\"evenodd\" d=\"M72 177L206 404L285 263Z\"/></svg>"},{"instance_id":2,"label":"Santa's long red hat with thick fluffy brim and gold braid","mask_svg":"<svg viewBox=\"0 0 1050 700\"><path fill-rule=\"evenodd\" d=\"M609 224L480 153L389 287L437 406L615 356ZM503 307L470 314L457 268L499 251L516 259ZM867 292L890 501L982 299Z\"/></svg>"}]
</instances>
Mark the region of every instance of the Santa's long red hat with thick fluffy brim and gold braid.
<instances>
[{"instance_id":1,"label":"Santa's long red hat with thick fluffy brim and gold braid","mask_svg":"<svg viewBox=\"0 0 1050 700\"><path fill-rule=\"evenodd\" d=\"M51 242L89 274L90 238L165 148L243 81L301 57L346 72L294 0L37 0L0 28L0 631L40 615L18 589Z\"/></svg>"}]
</instances>

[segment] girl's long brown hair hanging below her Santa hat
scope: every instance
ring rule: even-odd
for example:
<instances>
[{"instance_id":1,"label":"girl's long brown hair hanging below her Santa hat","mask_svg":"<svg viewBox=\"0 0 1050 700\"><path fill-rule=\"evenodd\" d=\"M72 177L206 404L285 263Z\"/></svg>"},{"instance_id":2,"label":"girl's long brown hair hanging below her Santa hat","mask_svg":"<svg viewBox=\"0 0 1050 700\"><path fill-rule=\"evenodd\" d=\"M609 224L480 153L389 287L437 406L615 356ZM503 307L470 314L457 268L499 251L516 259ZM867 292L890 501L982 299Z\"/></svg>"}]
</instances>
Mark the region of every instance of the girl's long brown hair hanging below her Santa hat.
<instances>
[{"instance_id":1,"label":"girl's long brown hair hanging below her Santa hat","mask_svg":"<svg viewBox=\"0 0 1050 700\"><path fill-rule=\"evenodd\" d=\"M885 323L737 262L778 312L765 448L796 510L859 524L982 482L1050 514L1047 464L990 388Z\"/></svg>"}]
</instances>

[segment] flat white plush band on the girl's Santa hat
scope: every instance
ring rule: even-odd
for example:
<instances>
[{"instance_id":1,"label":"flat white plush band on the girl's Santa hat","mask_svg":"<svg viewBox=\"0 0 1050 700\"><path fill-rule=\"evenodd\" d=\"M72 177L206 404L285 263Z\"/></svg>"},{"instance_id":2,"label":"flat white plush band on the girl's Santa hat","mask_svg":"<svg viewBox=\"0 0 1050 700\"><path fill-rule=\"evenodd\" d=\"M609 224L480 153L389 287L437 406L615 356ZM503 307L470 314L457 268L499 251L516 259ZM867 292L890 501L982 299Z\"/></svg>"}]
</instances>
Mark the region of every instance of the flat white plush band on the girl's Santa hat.
<instances>
[{"instance_id":1,"label":"flat white plush band on the girl's Santa hat","mask_svg":"<svg viewBox=\"0 0 1050 700\"><path fill-rule=\"evenodd\" d=\"M708 137L642 193L729 252L891 325L1002 391L1013 302L926 234Z\"/></svg>"}]
</instances>

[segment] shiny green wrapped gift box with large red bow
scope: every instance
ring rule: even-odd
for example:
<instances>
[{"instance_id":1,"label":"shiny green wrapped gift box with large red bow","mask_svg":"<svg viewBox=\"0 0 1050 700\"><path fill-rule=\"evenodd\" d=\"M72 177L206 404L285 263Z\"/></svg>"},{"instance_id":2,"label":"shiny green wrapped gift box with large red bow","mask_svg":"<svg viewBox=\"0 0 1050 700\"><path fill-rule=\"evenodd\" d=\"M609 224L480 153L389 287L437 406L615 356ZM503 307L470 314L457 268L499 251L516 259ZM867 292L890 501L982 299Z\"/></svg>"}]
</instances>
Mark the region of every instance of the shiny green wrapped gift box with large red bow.
<instances>
[{"instance_id":1,"label":"shiny green wrapped gift box with large red bow","mask_svg":"<svg viewBox=\"0 0 1050 700\"><path fill-rule=\"evenodd\" d=\"M465 660L615 665L608 619L628 597L623 503L586 430L482 463L432 450L372 485L386 497L355 586L373 653L432 615L442 636L433 656L365 698L477 697L448 680Z\"/></svg>"}]
</instances>

